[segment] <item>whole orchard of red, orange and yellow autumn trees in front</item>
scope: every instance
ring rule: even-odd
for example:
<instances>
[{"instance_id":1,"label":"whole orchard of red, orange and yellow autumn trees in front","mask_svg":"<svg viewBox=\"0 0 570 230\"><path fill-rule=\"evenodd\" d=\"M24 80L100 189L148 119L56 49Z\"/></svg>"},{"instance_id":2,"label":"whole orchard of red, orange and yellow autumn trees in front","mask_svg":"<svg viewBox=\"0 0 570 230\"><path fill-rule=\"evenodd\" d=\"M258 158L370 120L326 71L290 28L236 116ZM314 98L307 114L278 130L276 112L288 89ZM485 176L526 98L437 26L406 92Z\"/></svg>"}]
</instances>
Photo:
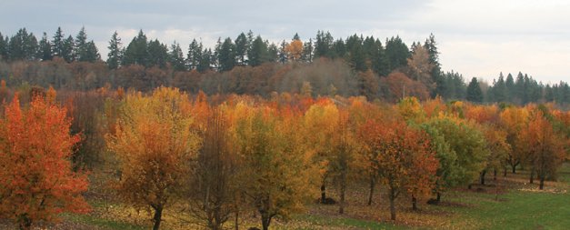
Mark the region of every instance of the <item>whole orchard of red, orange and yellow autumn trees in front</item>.
<instances>
[{"instance_id":1,"label":"whole orchard of red, orange and yellow autumn trees in front","mask_svg":"<svg viewBox=\"0 0 570 230\"><path fill-rule=\"evenodd\" d=\"M116 171L109 183L119 197L153 210L155 229L174 204L211 229L231 216L238 225L253 210L267 229L275 217L302 212L319 190L325 203L330 187L339 191L342 214L346 191L359 181L370 185L368 204L378 185L385 187L395 219L398 198L413 207L431 195L439 201L447 189L477 178L484 184L487 172L506 174L509 165L514 172L525 165L542 189L568 157L570 115L552 105L419 103L415 97L373 104L363 97L314 99L304 88L304 95L270 99L102 88L58 94L67 109L55 103L52 89L23 96L32 101L23 110L14 96L0 123L0 215L26 228L61 211L85 212L79 195L85 177L72 168L106 165ZM5 85L0 91L7 92ZM70 127L83 138L69 135ZM62 137L41 138L54 132ZM80 150L72 152L78 141ZM100 157L105 149L116 164ZM62 205L70 197L79 205ZM29 208L14 208L23 205Z\"/></svg>"}]
</instances>

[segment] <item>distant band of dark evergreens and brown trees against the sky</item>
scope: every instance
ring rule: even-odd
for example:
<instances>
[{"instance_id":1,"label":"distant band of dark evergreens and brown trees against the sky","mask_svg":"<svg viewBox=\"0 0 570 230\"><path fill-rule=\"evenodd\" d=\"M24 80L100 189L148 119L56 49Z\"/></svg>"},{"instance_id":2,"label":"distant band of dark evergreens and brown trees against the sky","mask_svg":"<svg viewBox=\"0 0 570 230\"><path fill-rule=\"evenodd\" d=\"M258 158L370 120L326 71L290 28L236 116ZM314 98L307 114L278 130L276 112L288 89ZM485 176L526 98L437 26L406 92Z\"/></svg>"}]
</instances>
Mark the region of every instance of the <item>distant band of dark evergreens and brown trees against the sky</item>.
<instances>
[{"instance_id":1,"label":"distant band of dark evergreens and brown trees against the sky","mask_svg":"<svg viewBox=\"0 0 570 230\"><path fill-rule=\"evenodd\" d=\"M570 102L570 86L565 82L544 85L519 72L516 77L500 74L489 85L477 78L467 83L459 73L444 72L434 35L408 47L399 36L383 44L374 36L335 39L324 31L305 42L295 34L290 41L275 44L249 31L235 39L220 37L215 47L192 39L184 53L178 43L165 45L140 30L128 45L115 32L107 48L103 62L95 43L87 40L85 28L75 38L65 38L58 27L51 39L44 33L39 42L22 28L0 39L0 78L9 85L56 89L87 90L109 84L150 91L169 85L194 94L203 90L264 96L274 91L298 93L308 82L319 89L315 95L335 89L345 96L393 102L405 95L516 105ZM338 73L326 71L332 67Z\"/></svg>"}]
</instances>

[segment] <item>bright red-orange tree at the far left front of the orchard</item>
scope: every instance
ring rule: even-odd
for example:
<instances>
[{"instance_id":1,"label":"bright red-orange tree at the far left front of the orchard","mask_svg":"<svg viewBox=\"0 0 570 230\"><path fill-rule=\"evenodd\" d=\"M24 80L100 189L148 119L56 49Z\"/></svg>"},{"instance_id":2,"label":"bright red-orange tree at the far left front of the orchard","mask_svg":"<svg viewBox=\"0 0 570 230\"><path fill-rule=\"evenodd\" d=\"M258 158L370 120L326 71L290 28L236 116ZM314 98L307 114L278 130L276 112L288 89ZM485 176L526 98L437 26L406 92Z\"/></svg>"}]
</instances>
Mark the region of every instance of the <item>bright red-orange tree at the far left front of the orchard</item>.
<instances>
[{"instance_id":1,"label":"bright red-orange tree at the far left front of the orchard","mask_svg":"<svg viewBox=\"0 0 570 230\"><path fill-rule=\"evenodd\" d=\"M0 216L21 229L89 210L86 175L70 161L79 136L69 135L70 119L53 99L35 96L23 109L15 95L0 120Z\"/></svg>"}]
</instances>

